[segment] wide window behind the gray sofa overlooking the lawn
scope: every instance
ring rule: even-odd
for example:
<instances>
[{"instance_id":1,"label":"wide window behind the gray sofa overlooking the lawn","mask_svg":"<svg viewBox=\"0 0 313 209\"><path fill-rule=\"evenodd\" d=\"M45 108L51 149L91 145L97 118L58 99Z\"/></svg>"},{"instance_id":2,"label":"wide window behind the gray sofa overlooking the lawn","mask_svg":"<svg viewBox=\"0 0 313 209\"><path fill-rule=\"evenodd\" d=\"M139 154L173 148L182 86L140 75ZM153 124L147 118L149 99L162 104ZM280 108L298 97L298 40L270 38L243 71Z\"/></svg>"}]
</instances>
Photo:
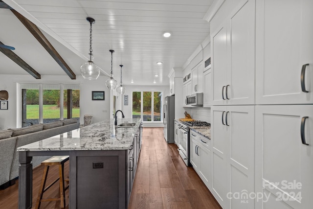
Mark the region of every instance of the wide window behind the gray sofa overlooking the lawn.
<instances>
[{"instance_id":1,"label":"wide window behind the gray sofa overlooking the lawn","mask_svg":"<svg viewBox=\"0 0 313 209\"><path fill-rule=\"evenodd\" d=\"M21 125L49 123L60 119L78 118L79 85L21 84Z\"/></svg>"}]
</instances>

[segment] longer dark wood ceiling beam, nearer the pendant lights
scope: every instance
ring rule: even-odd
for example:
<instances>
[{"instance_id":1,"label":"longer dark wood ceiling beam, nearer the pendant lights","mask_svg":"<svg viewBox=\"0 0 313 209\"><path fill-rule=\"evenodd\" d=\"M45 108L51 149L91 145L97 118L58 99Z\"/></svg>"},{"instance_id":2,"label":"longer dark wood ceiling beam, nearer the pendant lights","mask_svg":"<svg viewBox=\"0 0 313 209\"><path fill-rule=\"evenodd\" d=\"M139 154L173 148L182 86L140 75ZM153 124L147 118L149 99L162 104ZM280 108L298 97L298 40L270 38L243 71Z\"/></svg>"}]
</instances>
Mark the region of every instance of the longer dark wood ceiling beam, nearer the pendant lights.
<instances>
[{"instance_id":1,"label":"longer dark wood ceiling beam, nearer the pendant lights","mask_svg":"<svg viewBox=\"0 0 313 209\"><path fill-rule=\"evenodd\" d=\"M13 14L25 25L25 27L29 30L31 34L39 41L39 43L44 46L45 50L53 57L53 59L61 66L61 68L67 73L67 75L71 79L76 79L75 73L69 68L64 59L60 56L60 54L55 50L55 48L50 44L45 35L40 31L40 29L20 13L11 10Z\"/></svg>"}]
</instances>

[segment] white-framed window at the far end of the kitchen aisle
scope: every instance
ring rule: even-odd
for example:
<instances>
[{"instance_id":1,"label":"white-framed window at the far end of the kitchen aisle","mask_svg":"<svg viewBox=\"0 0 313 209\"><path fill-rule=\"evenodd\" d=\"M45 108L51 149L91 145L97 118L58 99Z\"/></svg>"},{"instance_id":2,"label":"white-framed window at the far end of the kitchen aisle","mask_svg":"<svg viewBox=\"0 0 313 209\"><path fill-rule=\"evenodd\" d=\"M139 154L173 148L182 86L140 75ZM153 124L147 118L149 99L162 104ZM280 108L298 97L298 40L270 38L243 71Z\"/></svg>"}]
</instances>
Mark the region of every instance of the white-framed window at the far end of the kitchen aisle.
<instances>
[{"instance_id":1,"label":"white-framed window at the far end of the kitchen aisle","mask_svg":"<svg viewBox=\"0 0 313 209\"><path fill-rule=\"evenodd\" d=\"M160 93L133 92L133 118L142 118L142 121L161 121Z\"/></svg>"}]
</instances>

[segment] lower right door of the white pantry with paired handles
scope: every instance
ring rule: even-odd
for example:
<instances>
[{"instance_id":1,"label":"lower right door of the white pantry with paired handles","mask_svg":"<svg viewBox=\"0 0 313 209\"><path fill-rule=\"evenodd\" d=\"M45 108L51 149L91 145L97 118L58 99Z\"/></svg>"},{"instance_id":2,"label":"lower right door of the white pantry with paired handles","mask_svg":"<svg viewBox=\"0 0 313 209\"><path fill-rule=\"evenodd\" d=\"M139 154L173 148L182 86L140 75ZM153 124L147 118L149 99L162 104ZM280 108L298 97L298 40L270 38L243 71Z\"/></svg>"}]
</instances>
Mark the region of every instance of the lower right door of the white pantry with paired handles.
<instances>
[{"instance_id":1,"label":"lower right door of the white pantry with paired handles","mask_svg":"<svg viewBox=\"0 0 313 209\"><path fill-rule=\"evenodd\" d=\"M254 106L227 106L227 204L225 208L253 209L254 199ZM229 181L229 182L228 182ZM240 194L240 198L237 198ZM229 206L228 206L229 204Z\"/></svg>"}]
</instances>

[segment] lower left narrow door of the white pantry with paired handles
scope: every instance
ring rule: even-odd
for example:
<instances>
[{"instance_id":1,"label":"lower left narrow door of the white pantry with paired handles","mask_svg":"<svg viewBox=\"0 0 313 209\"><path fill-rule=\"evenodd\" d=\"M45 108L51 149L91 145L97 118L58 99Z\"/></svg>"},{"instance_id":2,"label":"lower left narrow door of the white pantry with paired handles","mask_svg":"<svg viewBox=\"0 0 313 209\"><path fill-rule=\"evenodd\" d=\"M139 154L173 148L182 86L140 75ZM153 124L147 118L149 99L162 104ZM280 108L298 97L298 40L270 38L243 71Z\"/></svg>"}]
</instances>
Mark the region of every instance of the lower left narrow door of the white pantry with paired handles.
<instances>
[{"instance_id":1,"label":"lower left narrow door of the white pantry with paired handles","mask_svg":"<svg viewBox=\"0 0 313 209\"><path fill-rule=\"evenodd\" d=\"M224 207L227 188L227 129L225 124L226 106L211 106L211 166L212 166L212 194L215 199ZM223 119L222 119L223 118ZM223 124L224 123L224 124Z\"/></svg>"}]
</instances>

